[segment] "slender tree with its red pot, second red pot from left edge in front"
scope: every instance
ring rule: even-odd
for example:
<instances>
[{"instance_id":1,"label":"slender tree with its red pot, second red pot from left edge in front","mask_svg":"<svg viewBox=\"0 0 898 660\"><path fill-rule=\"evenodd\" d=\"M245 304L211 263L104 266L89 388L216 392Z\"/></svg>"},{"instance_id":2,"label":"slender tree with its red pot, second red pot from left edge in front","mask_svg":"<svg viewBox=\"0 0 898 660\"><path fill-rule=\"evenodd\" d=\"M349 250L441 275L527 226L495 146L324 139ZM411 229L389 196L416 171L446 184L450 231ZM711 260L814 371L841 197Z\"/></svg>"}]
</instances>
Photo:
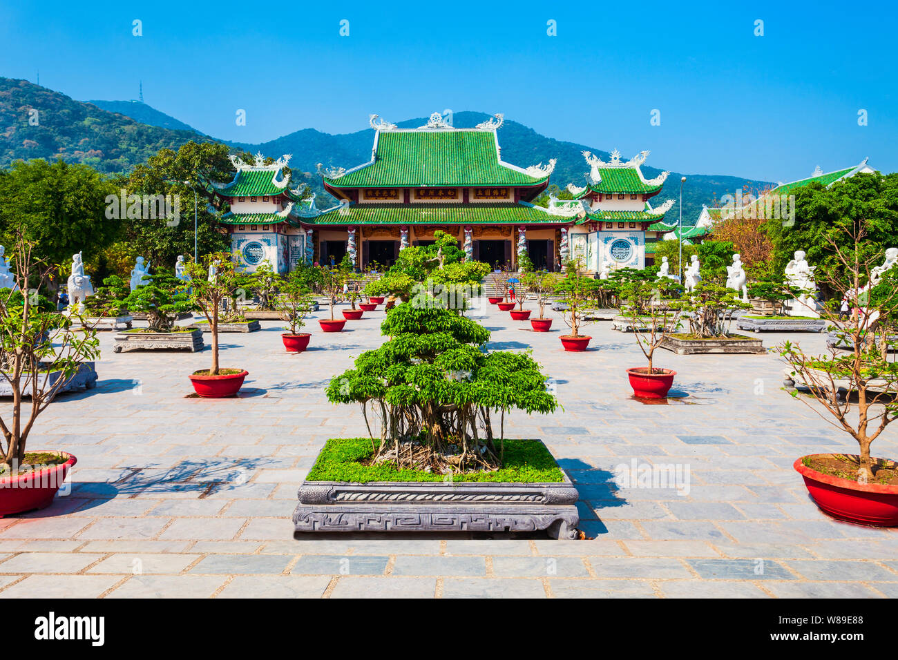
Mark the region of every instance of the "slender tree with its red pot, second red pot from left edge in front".
<instances>
[{"instance_id":1,"label":"slender tree with its red pot, second red pot from left edge in front","mask_svg":"<svg viewBox=\"0 0 898 660\"><path fill-rule=\"evenodd\" d=\"M240 281L234 255L228 252L207 254L200 263L189 261L185 268L190 276L190 302L202 312L209 324L212 365L189 375L193 389L201 397L220 399L240 392L249 374L245 369L222 368L218 365L218 319L222 304L233 295Z\"/></svg>"}]
</instances>

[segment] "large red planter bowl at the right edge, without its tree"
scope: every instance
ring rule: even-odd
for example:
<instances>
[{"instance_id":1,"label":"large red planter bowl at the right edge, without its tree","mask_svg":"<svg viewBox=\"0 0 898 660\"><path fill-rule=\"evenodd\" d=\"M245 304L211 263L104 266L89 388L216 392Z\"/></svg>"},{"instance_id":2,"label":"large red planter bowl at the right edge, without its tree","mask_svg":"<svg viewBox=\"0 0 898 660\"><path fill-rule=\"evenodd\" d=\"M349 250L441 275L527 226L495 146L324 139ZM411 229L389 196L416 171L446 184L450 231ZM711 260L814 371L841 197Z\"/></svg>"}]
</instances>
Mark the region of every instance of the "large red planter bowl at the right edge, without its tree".
<instances>
[{"instance_id":1,"label":"large red planter bowl at the right edge, without its tree","mask_svg":"<svg viewBox=\"0 0 898 660\"><path fill-rule=\"evenodd\" d=\"M814 503L825 513L850 523L898 527L898 486L861 484L850 479L821 474L807 467L802 462L804 458L806 457L799 458L792 467L805 478L805 486Z\"/></svg>"}]
</instances>

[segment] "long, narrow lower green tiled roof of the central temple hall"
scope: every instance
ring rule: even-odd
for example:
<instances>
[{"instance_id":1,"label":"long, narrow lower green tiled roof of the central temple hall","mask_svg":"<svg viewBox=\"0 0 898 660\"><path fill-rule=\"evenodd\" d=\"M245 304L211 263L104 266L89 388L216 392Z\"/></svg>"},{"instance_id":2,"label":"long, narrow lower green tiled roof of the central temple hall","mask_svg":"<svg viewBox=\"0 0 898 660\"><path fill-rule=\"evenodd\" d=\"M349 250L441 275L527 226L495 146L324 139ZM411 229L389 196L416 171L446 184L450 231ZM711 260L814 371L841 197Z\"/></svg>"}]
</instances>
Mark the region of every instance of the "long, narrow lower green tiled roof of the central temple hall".
<instances>
[{"instance_id":1,"label":"long, narrow lower green tiled roof of the central temple hall","mask_svg":"<svg viewBox=\"0 0 898 660\"><path fill-rule=\"evenodd\" d=\"M569 224L573 218L551 216L541 207L519 204L351 204L304 224Z\"/></svg>"}]
</instances>

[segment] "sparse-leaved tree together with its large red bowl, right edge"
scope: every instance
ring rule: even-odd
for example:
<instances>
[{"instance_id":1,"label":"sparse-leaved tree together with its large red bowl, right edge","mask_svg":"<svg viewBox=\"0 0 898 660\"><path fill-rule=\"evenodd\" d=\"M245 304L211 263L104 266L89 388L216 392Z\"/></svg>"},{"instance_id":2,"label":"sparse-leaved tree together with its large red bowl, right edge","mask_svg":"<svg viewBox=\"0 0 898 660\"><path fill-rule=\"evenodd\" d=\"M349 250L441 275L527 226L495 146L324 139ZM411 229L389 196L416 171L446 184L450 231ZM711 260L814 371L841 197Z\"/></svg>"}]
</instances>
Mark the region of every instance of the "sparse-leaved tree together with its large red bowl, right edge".
<instances>
[{"instance_id":1,"label":"sparse-leaved tree together with its large red bowl, right edge","mask_svg":"<svg viewBox=\"0 0 898 660\"><path fill-rule=\"evenodd\" d=\"M809 454L798 458L794 467L825 513L854 523L896 526L898 463L872 456L870 445L898 418L898 364L886 352L888 344L894 348L888 338L896 331L898 289L894 282L886 282L870 291L871 267L882 257L869 255L862 244L865 224L854 224L847 231L852 233L853 250L827 237L837 265L818 268L817 281L841 297L848 296L854 307L848 319L841 318L837 297L821 312L850 351L830 347L829 355L807 354L788 341L778 348L788 364L787 384L806 386L810 399L798 397L796 390L792 395L854 438L858 453ZM875 324L881 324L879 342L870 331Z\"/></svg>"}]
</instances>

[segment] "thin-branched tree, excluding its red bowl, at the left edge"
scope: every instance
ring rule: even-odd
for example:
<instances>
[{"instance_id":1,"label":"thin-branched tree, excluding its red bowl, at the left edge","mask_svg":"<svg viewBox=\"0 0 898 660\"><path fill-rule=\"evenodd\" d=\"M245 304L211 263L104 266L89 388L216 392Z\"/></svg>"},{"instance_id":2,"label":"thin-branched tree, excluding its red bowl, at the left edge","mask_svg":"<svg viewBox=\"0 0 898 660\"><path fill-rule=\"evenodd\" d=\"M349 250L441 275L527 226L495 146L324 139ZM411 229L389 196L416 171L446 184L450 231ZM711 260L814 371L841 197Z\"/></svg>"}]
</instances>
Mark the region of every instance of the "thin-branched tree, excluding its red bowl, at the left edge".
<instances>
[{"instance_id":1,"label":"thin-branched tree, excluding its red bowl, at the left edge","mask_svg":"<svg viewBox=\"0 0 898 660\"><path fill-rule=\"evenodd\" d=\"M40 413L71 382L82 363L100 356L95 330L73 331L73 320L37 294L60 267L35 258L34 248L20 233L12 254L17 289L0 290L0 374L13 392L11 404L0 414L0 472L7 474L17 474L35 462L26 447ZM22 295L23 291L27 293ZM56 380L51 377L54 374ZM39 457L33 458L40 462Z\"/></svg>"}]
</instances>

